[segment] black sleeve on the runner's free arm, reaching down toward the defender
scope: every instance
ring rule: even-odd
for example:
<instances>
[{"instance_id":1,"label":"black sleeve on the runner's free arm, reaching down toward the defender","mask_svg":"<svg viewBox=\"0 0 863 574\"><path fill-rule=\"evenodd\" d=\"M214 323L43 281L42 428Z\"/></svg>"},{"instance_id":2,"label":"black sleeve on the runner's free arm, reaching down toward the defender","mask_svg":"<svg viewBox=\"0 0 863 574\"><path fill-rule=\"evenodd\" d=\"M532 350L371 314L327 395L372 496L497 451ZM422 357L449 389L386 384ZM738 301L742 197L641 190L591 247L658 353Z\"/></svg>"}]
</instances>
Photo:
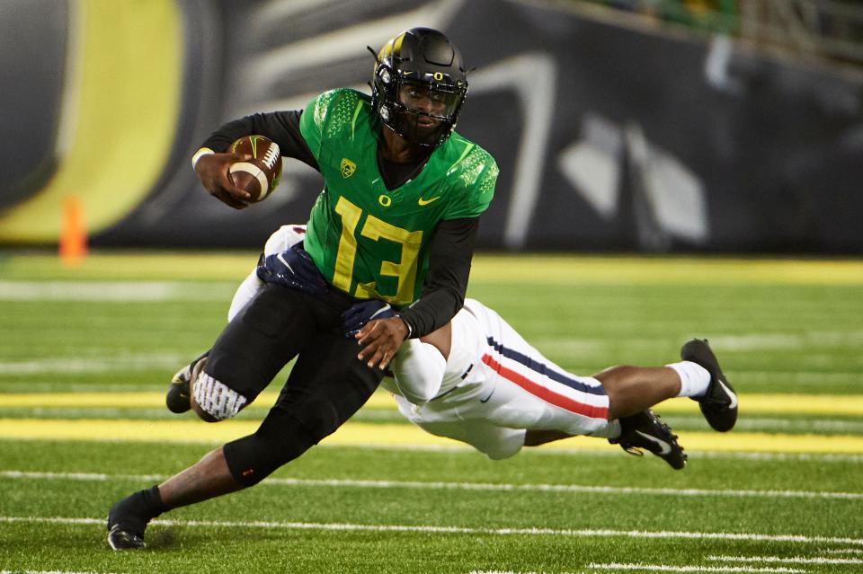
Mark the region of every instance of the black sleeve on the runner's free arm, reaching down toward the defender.
<instances>
[{"instance_id":1,"label":"black sleeve on the runner's free arm, reaching down toward the defender","mask_svg":"<svg viewBox=\"0 0 863 574\"><path fill-rule=\"evenodd\" d=\"M477 229L479 217L450 219L438 224L432 237L423 296L399 313L411 330L411 338L440 329L465 304Z\"/></svg>"}]
</instances>

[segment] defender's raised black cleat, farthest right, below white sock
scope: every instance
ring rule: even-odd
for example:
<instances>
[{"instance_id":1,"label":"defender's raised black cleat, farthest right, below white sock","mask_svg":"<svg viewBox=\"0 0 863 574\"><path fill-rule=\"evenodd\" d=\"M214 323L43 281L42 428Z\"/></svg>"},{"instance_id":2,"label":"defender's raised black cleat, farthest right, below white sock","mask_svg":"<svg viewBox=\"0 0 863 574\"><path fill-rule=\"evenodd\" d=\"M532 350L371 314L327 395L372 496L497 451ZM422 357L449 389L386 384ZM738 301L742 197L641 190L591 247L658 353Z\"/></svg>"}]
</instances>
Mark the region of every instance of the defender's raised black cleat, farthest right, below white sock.
<instances>
[{"instance_id":1,"label":"defender's raised black cleat, farthest right, below white sock","mask_svg":"<svg viewBox=\"0 0 863 574\"><path fill-rule=\"evenodd\" d=\"M734 387L722 374L716 355L707 345L707 340L693 339L683 345L681 358L703 366L710 373L710 384L703 397L693 397L698 401L701 413L715 430L726 432L737 422L737 395Z\"/></svg>"}]
</instances>

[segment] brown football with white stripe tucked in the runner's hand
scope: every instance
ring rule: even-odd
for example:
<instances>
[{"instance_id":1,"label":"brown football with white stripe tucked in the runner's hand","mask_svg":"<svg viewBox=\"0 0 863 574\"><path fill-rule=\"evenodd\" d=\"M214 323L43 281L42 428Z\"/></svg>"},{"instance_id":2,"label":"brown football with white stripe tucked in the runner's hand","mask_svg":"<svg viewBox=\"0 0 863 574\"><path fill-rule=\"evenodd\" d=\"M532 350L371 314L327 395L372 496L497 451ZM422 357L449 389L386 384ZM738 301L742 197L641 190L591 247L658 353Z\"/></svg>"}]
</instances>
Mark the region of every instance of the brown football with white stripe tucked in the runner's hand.
<instances>
[{"instance_id":1,"label":"brown football with white stripe tucked in the runner's hand","mask_svg":"<svg viewBox=\"0 0 863 574\"><path fill-rule=\"evenodd\" d=\"M248 191L252 201L262 201L279 185L281 155L279 146L263 136L240 137L230 151L252 157L231 164L228 177L236 187Z\"/></svg>"}]
</instances>

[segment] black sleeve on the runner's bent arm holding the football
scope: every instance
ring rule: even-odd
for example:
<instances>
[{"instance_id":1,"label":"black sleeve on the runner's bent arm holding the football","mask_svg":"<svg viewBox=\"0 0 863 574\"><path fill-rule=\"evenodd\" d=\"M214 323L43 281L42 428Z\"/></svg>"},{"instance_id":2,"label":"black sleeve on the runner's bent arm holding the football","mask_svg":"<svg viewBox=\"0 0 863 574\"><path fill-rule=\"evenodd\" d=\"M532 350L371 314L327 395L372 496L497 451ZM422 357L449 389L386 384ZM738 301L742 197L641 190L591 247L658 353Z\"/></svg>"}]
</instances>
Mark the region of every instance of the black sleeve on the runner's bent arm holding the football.
<instances>
[{"instance_id":1,"label":"black sleeve on the runner's bent arm holding the football","mask_svg":"<svg viewBox=\"0 0 863 574\"><path fill-rule=\"evenodd\" d=\"M303 110L273 111L235 119L214 131L200 146L209 147L214 152L225 152L240 137L269 137L279 146L281 155L298 159L320 172L312 150L299 131L302 114Z\"/></svg>"}]
</instances>

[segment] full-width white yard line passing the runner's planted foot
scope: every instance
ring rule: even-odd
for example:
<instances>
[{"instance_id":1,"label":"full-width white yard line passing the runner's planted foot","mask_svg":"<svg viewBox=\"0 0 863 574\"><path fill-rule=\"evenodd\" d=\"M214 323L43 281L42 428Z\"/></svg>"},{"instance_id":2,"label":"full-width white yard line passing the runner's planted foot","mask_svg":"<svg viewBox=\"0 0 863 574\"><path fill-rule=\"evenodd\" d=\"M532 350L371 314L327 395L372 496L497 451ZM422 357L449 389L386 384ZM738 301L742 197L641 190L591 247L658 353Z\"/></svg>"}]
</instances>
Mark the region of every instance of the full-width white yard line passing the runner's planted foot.
<instances>
[{"instance_id":1,"label":"full-width white yard line passing the runner's planted foot","mask_svg":"<svg viewBox=\"0 0 863 574\"><path fill-rule=\"evenodd\" d=\"M0 524L39 523L63 525L101 525L104 518L76 517L0 517ZM154 520L150 524L163 526L189 526L203 528L276 528L286 530L326 530L353 532L420 532L432 534L494 534L520 536L569 536L569 537L618 537L646 539L729 540L774 543L830 543L863 546L863 538L840 538L833 536L805 536L803 534L758 534L726 532L685 532L645 530L563 530L555 528L475 528L471 526L435 525L357 525L344 523L239 521L239 520ZM695 570L697 571L697 570ZM782 570L777 570L782 571Z\"/></svg>"}]
</instances>

